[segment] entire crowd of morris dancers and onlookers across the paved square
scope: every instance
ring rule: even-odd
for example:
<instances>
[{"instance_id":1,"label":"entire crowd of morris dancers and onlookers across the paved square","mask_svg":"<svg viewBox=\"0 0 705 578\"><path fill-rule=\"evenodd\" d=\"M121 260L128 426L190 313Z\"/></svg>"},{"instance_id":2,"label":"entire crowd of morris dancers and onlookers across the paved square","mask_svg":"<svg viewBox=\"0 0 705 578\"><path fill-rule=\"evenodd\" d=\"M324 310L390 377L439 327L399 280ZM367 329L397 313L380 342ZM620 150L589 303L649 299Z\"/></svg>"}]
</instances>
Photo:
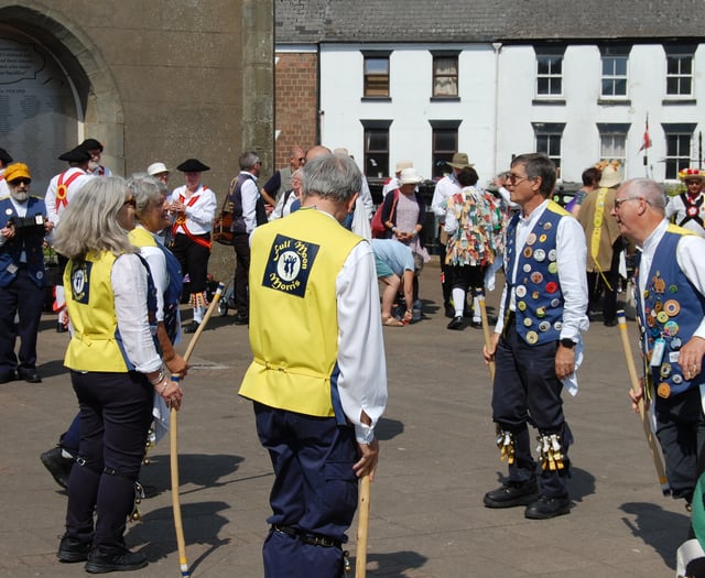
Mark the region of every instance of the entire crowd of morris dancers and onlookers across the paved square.
<instances>
[{"instance_id":1,"label":"entire crowd of morris dancers and onlookers across the paved square","mask_svg":"<svg viewBox=\"0 0 705 578\"><path fill-rule=\"evenodd\" d=\"M0 383L42 379L36 337L51 246L62 272L57 329L69 331L64 362L79 412L42 461L68 489L57 556L85 561L89 572L147 565L122 536L150 424L182 404L169 374L187 374L174 345L204 320L217 210L199 160L176 167L184 184L170 192L164 163L124 181L100 165L102 150L87 139L63 153L68 166L42 199L30 195L31 167L0 149ZM424 178L403 160L375 212L345 149L294 146L290 164L263 186L256 152L238 163L224 210L236 261L235 324L249 326L253 355L240 395L252 401L275 476L268 576L292 565L302 576L343 575L357 480L373 478L379 456L382 328L419 318L429 230L442 248L448 329L463 329L467 317L481 327L480 297L471 295L505 273L484 356L494 367L491 412L508 476L485 505L522 506L530 520L570 513L574 436L562 392L577 392L590 320L617 324L628 254L636 255L644 359L631 402L652 406L673 495L703 510L705 172L682 171L684 190L668 199L653 181L623 182L619 162L600 162L585 170L583 189L564 208L553 200L557 171L546 155L516 156L494 187L484 187L457 152L429 207L419 190ZM185 295L193 314L182 326ZM538 430L535 457L529 426ZM695 525L692 537L705 539Z\"/></svg>"}]
</instances>

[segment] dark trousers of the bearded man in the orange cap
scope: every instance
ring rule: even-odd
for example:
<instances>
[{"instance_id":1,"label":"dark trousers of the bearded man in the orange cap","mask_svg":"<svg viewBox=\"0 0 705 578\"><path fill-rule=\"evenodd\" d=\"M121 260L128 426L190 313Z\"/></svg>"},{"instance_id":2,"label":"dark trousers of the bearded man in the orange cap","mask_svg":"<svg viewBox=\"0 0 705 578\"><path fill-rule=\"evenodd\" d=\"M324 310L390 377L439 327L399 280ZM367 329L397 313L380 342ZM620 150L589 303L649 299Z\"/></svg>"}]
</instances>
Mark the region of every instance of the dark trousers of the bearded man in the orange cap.
<instances>
[{"instance_id":1,"label":"dark trousers of the bearded man in the orange cap","mask_svg":"<svg viewBox=\"0 0 705 578\"><path fill-rule=\"evenodd\" d=\"M0 373L36 368L36 335L44 307L44 290L30 277L26 268L14 280L0 287ZM15 314L19 324L14 323ZM20 349L14 352L18 336Z\"/></svg>"}]
</instances>

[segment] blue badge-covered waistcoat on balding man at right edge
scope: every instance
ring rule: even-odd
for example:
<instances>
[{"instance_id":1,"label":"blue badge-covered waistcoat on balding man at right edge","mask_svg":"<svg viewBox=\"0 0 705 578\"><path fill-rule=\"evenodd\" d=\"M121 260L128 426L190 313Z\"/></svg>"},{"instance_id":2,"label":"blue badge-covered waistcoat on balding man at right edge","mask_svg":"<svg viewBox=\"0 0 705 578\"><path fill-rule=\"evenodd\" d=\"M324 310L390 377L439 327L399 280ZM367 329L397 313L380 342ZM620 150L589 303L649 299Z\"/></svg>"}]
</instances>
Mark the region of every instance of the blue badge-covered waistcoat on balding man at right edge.
<instances>
[{"instance_id":1,"label":"blue badge-covered waistcoat on balding man at right edge","mask_svg":"<svg viewBox=\"0 0 705 578\"><path fill-rule=\"evenodd\" d=\"M643 294L637 298L638 319L640 324L646 321L641 327L641 346L647 374L657 394L664 399L705 382L705 372L692 381L686 380L677 362L681 347L691 339L705 316L705 297L688 281L675 259L679 241L684 235L694 233L669 225L653 254ZM652 366L653 346L659 338L664 342L663 355L660 363Z\"/></svg>"}]
</instances>

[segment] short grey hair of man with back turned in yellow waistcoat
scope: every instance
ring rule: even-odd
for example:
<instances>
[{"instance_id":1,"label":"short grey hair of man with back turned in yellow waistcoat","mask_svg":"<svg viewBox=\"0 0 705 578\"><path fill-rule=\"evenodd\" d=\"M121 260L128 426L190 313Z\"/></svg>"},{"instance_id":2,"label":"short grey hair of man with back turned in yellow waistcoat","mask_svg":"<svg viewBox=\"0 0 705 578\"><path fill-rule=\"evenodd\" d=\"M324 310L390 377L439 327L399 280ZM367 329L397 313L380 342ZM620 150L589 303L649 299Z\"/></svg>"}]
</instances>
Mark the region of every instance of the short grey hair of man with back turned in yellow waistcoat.
<instances>
[{"instance_id":1,"label":"short grey hair of man with back turned in yellow waistcoat","mask_svg":"<svg viewBox=\"0 0 705 578\"><path fill-rule=\"evenodd\" d=\"M322 154L304 168L302 195L345 203L362 188L362 174L352 159L343 154Z\"/></svg>"}]
</instances>

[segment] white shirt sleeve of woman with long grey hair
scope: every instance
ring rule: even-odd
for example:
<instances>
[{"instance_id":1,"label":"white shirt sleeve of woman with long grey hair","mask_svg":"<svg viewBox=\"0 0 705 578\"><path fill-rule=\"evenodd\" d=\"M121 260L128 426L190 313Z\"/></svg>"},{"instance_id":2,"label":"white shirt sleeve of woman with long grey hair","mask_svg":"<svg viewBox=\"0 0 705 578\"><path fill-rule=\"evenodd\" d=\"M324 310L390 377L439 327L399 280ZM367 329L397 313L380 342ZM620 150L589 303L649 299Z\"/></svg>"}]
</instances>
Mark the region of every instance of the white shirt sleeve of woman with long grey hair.
<instances>
[{"instance_id":1,"label":"white shirt sleeve of woman with long grey hair","mask_svg":"<svg viewBox=\"0 0 705 578\"><path fill-rule=\"evenodd\" d=\"M147 309L147 270L135 254L122 254L110 272L115 292L118 330L128 359L140 373L151 373L162 367L150 330Z\"/></svg>"}]
</instances>

